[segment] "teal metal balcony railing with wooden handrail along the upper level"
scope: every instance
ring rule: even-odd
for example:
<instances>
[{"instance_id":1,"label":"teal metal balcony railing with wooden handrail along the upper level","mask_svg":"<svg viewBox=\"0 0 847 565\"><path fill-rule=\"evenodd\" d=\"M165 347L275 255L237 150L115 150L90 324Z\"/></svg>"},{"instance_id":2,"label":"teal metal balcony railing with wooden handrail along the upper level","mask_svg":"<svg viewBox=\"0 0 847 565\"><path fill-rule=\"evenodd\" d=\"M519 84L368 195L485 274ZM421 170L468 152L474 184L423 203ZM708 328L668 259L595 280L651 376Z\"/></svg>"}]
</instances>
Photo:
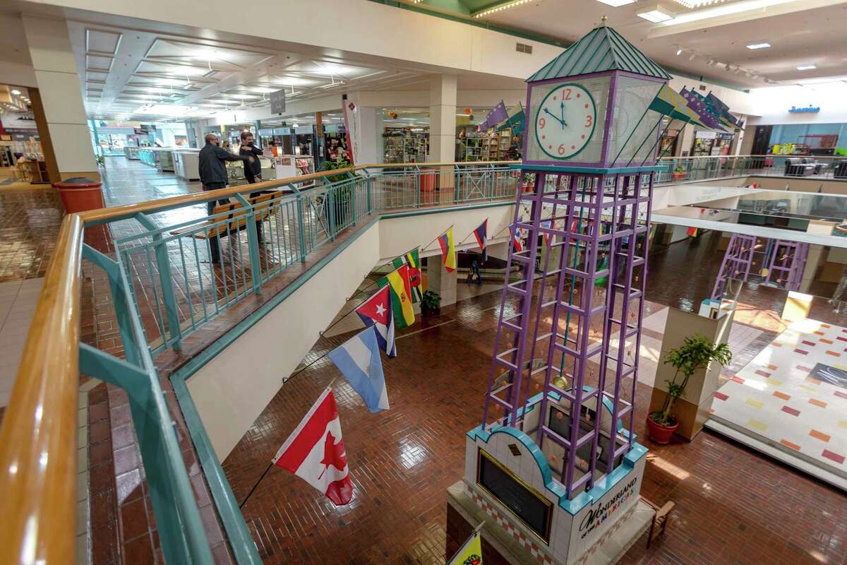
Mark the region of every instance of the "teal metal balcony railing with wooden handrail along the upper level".
<instances>
[{"instance_id":1,"label":"teal metal balcony railing with wooden handrail along the upper level","mask_svg":"<svg viewBox=\"0 0 847 565\"><path fill-rule=\"evenodd\" d=\"M685 180L762 174L779 168L773 159L667 158L658 181L678 181L675 170ZM212 562L153 357L180 349L186 335L374 214L511 201L512 164L363 165L67 216L0 430L0 562L74 559L80 371L128 392L166 560ZM252 202L257 191L276 192ZM241 216L207 213L207 202L229 198ZM103 224L113 256L84 243L86 230ZM83 259L108 277L125 358L80 343ZM231 492L215 502L236 560L259 562Z\"/></svg>"}]
</instances>

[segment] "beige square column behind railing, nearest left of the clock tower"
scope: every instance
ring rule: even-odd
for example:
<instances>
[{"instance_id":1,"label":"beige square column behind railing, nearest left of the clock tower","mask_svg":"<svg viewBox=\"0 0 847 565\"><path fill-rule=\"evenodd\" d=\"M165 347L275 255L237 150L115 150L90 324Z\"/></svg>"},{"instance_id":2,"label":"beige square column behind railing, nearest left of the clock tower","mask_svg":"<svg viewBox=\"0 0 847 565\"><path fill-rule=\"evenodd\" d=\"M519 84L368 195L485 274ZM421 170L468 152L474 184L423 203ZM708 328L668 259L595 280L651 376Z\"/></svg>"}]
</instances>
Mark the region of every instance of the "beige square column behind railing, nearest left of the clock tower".
<instances>
[{"instance_id":1,"label":"beige square column behind railing, nearest left of the clock tower","mask_svg":"<svg viewBox=\"0 0 847 565\"><path fill-rule=\"evenodd\" d=\"M456 77L434 76L429 83L429 162L452 163L456 156ZM453 168L440 167L442 201L453 197Z\"/></svg>"}]
</instances>

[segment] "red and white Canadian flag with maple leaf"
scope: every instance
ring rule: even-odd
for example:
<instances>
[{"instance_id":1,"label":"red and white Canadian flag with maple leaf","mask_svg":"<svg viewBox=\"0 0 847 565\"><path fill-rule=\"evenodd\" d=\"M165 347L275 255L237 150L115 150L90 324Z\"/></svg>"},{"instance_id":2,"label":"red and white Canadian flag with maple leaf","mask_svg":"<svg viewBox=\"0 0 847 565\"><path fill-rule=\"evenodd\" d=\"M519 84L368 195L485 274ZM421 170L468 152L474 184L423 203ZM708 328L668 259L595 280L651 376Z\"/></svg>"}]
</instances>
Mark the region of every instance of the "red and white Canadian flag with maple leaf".
<instances>
[{"instance_id":1,"label":"red and white Canadian flag with maple leaf","mask_svg":"<svg viewBox=\"0 0 847 565\"><path fill-rule=\"evenodd\" d=\"M352 500L353 484L332 389L324 391L291 432L276 452L274 465L306 480L336 506Z\"/></svg>"}]
</instances>

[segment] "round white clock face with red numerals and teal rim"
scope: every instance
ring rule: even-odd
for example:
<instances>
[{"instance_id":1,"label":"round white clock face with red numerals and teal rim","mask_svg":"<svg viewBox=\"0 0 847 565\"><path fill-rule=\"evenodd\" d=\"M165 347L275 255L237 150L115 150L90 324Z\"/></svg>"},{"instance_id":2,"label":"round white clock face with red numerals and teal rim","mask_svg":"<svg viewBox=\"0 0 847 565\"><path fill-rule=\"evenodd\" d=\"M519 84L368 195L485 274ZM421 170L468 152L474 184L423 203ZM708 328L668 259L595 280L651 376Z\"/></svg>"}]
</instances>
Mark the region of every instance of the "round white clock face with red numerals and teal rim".
<instances>
[{"instance_id":1,"label":"round white clock face with red numerals and teal rim","mask_svg":"<svg viewBox=\"0 0 847 565\"><path fill-rule=\"evenodd\" d=\"M596 125L597 105L590 92L573 82L557 85L538 107L535 141L551 158L571 158L588 145Z\"/></svg>"}]
</instances>

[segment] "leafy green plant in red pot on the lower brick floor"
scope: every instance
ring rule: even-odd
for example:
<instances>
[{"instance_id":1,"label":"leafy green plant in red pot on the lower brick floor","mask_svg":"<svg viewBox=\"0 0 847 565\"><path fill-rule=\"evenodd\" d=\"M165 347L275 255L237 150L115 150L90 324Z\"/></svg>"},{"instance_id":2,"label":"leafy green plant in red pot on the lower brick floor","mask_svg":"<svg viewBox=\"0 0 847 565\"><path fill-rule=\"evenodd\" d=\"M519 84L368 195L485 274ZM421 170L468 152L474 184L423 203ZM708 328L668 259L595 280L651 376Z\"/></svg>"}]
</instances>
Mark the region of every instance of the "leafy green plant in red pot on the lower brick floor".
<instances>
[{"instance_id":1,"label":"leafy green plant in red pot on the lower brick floor","mask_svg":"<svg viewBox=\"0 0 847 565\"><path fill-rule=\"evenodd\" d=\"M700 368L708 367L712 361L726 367L733 360L733 354L726 343L715 344L704 335L695 334L686 337L683 345L667 352L665 363L676 369L673 380L667 380L667 396L661 410L651 412L647 416L647 435L650 440L659 444L669 443L673 432L679 427L677 418L673 416L673 403L685 395L685 386L692 374ZM679 375L682 379L679 379Z\"/></svg>"}]
</instances>

